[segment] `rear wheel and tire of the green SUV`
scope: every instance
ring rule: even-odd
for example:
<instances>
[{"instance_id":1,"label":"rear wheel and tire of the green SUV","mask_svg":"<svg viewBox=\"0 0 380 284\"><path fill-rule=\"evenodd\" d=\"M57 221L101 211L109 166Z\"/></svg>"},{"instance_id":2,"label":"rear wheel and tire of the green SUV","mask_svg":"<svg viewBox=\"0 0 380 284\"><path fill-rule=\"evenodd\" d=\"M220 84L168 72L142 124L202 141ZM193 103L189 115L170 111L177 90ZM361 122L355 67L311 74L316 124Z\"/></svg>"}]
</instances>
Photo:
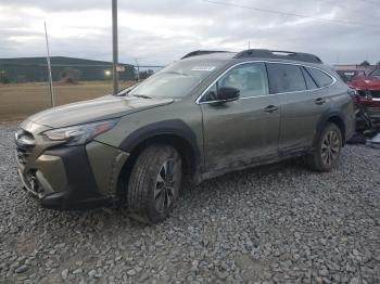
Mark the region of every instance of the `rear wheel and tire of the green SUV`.
<instances>
[{"instance_id":1,"label":"rear wheel and tire of the green SUV","mask_svg":"<svg viewBox=\"0 0 380 284\"><path fill-rule=\"evenodd\" d=\"M338 166L342 150L342 132L335 124L327 124L318 138L313 154L306 157L306 164L317 171L331 171Z\"/></svg>"}]
</instances>

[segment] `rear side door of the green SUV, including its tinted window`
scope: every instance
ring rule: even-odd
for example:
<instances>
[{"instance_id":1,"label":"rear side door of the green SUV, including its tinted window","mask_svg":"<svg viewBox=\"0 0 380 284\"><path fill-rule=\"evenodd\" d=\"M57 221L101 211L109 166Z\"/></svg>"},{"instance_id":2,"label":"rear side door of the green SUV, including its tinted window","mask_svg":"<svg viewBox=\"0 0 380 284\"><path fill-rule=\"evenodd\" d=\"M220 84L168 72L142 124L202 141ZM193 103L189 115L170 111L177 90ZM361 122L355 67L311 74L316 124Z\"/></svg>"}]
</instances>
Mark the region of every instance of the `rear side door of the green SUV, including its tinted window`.
<instances>
[{"instance_id":1,"label":"rear side door of the green SUV, including its tinted window","mask_svg":"<svg viewBox=\"0 0 380 284\"><path fill-rule=\"evenodd\" d=\"M267 69L270 92L281 104L280 154L311 147L326 102L317 83L301 65L267 63Z\"/></svg>"}]
</instances>

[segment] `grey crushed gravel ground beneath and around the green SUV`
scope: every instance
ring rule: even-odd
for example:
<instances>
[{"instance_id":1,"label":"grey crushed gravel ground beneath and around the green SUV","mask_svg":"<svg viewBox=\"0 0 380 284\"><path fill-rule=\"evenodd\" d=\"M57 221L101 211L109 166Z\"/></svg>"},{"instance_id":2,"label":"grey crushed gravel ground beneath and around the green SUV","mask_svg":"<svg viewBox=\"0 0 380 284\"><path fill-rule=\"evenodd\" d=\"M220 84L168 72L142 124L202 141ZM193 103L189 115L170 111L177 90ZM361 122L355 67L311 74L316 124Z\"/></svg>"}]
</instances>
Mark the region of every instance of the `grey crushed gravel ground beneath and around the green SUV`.
<instances>
[{"instance_id":1,"label":"grey crushed gravel ground beneath and around the green SUV","mask_svg":"<svg viewBox=\"0 0 380 284\"><path fill-rule=\"evenodd\" d=\"M0 125L0 283L380 283L380 151L339 169L293 160L202 183L148 227L122 209L41 209Z\"/></svg>"}]
</instances>

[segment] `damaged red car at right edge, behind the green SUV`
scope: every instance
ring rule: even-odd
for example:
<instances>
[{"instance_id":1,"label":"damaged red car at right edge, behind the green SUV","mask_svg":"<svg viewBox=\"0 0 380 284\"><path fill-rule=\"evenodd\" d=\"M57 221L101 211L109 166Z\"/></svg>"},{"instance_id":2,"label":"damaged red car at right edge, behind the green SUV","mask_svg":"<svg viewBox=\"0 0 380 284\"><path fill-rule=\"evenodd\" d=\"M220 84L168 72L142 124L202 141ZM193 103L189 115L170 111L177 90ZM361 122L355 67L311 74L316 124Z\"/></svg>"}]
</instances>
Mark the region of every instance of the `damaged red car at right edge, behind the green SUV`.
<instances>
[{"instance_id":1,"label":"damaged red car at right edge, behind the green SUV","mask_svg":"<svg viewBox=\"0 0 380 284\"><path fill-rule=\"evenodd\" d=\"M370 117L373 127L380 127L380 67L368 76L355 76L349 82L358 93L358 102Z\"/></svg>"}]
</instances>

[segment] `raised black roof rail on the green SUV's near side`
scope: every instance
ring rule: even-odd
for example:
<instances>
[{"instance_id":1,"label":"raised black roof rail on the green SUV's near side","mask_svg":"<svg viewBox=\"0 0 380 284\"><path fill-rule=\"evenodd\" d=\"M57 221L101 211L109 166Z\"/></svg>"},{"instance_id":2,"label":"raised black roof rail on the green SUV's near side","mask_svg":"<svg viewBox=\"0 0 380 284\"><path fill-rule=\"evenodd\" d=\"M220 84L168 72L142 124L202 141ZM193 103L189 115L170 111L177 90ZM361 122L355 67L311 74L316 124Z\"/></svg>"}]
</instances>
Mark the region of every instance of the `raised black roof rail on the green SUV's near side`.
<instances>
[{"instance_id":1,"label":"raised black roof rail on the green SUV's near side","mask_svg":"<svg viewBox=\"0 0 380 284\"><path fill-rule=\"evenodd\" d=\"M249 49L249 50L241 51L233 56L233 59L246 59L246 57L269 57L269 59L304 61L304 62L312 62L312 63L322 63L322 61L314 54L293 52L293 51L267 50L267 49Z\"/></svg>"}]
</instances>

